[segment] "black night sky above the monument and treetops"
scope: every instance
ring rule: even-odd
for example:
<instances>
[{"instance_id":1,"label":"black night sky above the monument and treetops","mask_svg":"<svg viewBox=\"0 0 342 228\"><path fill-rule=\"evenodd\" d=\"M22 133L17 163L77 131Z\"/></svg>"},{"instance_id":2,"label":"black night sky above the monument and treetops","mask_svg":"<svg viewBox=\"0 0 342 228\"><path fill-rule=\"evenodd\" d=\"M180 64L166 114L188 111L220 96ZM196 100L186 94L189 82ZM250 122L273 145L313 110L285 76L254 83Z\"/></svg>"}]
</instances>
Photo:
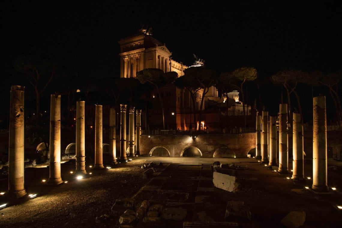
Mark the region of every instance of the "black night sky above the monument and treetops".
<instances>
[{"instance_id":1,"label":"black night sky above the monument and treetops","mask_svg":"<svg viewBox=\"0 0 342 228\"><path fill-rule=\"evenodd\" d=\"M28 54L49 56L69 74L118 77L118 40L142 24L185 65L192 65L196 54L221 72L252 66L262 77L284 68L341 69L336 3L261 2L2 3L2 88L8 93L6 83L13 83L13 59Z\"/></svg>"}]
</instances>

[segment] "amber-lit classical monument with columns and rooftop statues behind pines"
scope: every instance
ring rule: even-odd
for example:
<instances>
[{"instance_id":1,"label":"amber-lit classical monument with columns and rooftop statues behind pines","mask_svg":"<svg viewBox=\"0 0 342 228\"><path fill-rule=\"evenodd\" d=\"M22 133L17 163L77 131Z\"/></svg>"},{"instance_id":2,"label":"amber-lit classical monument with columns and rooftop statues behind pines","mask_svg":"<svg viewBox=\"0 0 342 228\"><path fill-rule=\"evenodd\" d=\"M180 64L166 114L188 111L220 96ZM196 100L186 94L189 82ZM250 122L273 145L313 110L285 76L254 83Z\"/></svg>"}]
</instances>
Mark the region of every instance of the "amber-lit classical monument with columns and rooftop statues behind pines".
<instances>
[{"instance_id":1,"label":"amber-lit classical monument with columns and rooftop statues behind pines","mask_svg":"<svg viewBox=\"0 0 342 228\"><path fill-rule=\"evenodd\" d=\"M162 43L151 36L151 33L146 30L141 30L137 34L123 38L118 41L120 44L120 77L121 78L135 78L136 72L146 68L157 68L164 72L175 71L178 77L184 75L184 70L188 66L176 62L172 59L172 52ZM204 61L198 59L194 55L196 61L192 67L202 66ZM195 109L200 108L202 90L199 90L195 96ZM193 103L188 91L176 88L174 85L167 85L161 92L163 103L165 105L165 125L166 129L188 131L190 123L194 128L193 119ZM196 116L197 129L206 130L207 127L211 130L220 130L220 116L222 113L219 109L215 109L211 113L207 111L210 109L210 103L219 106L220 103L228 102L229 116L242 116L242 103L239 102L239 93L233 91L228 94L228 97L219 97L218 90L211 86L209 92L205 95L201 119L199 115ZM162 116L158 93L152 91L147 94L145 99L152 103L153 108L147 110L147 113L142 114L142 128L162 130ZM223 104L222 107L226 107ZM250 107L246 106L246 115L250 115ZM192 113L192 114L191 114ZM147 126L148 123L148 126Z\"/></svg>"}]
</instances>

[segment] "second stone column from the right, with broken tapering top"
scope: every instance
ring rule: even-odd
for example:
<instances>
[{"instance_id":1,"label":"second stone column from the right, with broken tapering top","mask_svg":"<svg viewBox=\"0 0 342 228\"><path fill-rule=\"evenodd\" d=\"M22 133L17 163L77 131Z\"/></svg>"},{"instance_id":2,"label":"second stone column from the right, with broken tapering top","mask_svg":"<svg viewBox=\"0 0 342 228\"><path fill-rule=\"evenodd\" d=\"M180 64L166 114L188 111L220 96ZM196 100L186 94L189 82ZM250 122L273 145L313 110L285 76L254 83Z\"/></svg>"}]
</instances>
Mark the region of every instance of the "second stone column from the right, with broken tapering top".
<instances>
[{"instance_id":1,"label":"second stone column from the right, with broken tapering top","mask_svg":"<svg viewBox=\"0 0 342 228\"><path fill-rule=\"evenodd\" d=\"M303 124L300 113L293 113L293 136L292 136L292 179L304 179L304 145L303 145Z\"/></svg>"}]
</instances>

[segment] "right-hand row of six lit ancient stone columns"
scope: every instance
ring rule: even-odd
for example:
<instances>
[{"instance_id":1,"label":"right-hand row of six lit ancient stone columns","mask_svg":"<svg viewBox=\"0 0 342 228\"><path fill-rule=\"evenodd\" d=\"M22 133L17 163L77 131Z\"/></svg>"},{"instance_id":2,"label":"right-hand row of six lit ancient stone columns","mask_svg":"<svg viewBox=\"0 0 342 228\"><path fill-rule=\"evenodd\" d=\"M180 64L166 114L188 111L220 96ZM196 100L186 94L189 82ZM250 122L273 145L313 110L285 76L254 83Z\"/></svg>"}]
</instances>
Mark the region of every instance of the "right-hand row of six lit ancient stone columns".
<instances>
[{"instance_id":1,"label":"right-hand row of six lit ancient stone columns","mask_svg":"<svg viewBox=\"0 0 342 228\"><path fill-rule=\"evenodd\" d=\"M328 191L327 186L327 119L325 96L313 98L313 185L315 191ZM293 173L292 179L304 179L303 124L301 115L293 113ZM279 105L279 173L288 173L287 104ZM269 128L269 134L268 134ZM256 118L255 159L268 166L277 165L276 117L262 111Z\"/></svg>"}]
</instances>

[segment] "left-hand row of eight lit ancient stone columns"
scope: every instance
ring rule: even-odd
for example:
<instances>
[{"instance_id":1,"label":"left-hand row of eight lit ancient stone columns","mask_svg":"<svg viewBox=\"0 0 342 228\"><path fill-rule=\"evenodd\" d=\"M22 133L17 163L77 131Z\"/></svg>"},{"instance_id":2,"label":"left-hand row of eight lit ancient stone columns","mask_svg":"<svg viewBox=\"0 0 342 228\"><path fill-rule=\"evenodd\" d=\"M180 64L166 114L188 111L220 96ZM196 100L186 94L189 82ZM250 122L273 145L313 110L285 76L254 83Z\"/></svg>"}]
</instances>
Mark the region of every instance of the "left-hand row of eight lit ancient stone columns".
<instances>
[{"instance_id":1,"label":"left-hand row of eight lit ancient stone columns","mask_svg":"<svg viewBox=\"0 0 342 228\"><path fill-rule=\"evenodd\" d=\"M9 178L8 192L11 198L25 196L24 187L24 86L12 85L10 95L10 133L9 133ZM86 174L85 164L85 121L84 101L76 104L76 173ZM126 158L126 106L121 108L121 157ZM95 106L95 168L103 168L102 158L102 105ZM110 109L110 153L112 162L116 161L115 109ZM136 110L136 154L140 154L141 110ZM130 156L134 156L134 107L130 108L129 145ZM61 95L51 95L50 106L50 177L49 184L63 183L61 177Z\"/></svg>"}]
</instances>

